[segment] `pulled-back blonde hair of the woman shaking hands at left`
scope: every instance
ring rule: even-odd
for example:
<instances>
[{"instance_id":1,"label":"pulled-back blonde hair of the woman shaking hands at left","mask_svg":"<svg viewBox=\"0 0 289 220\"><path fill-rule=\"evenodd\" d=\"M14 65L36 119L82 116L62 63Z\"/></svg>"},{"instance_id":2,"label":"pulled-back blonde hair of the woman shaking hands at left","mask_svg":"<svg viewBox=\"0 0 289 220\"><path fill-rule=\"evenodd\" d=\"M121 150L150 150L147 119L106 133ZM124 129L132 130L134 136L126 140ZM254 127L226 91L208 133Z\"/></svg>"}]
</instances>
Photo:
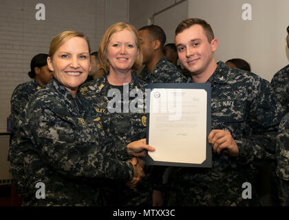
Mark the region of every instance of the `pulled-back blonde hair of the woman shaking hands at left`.
<instances>
[{"instance_id":1,"label":"pulled-back blonde hair of the woman shaking hands at left","mask_svg":"<svg viewBox=\"0 0 289 220\"><path fill-rule=\"evenodd\" d=\"M89 40L87 39L87 36L85 36L85 34L83 34L82 32L76 32L74 30L67 30L65 32L61 32L57 34L56 36L54 36L54 39L52 39L50 43L50 50L49 50L48 56L52 58L56 50L58 50L58 48L61 47L61 45L63 45L65 41L67 41L68 39L72 39L74 36L79 36L85 39L85 41L87 42L88 50L90 54L90 46L89 46Z\"/></svg>"}]
</instances>

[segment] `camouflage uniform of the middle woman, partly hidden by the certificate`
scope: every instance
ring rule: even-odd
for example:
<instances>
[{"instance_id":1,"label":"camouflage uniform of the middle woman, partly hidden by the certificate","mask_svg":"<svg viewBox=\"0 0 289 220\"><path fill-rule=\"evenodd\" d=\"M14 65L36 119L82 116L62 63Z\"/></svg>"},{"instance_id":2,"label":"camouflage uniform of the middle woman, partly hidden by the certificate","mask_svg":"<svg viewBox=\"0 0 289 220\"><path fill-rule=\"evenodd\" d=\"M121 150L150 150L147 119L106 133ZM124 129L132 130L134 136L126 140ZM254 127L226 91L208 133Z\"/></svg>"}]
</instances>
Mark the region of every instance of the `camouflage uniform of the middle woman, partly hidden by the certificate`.
<instances>
[{"instance_id":1,"label":"camouflage uniform of the middle woman, partly hidden by the certificate","mask_svg":"<svg viewBox=\"0 0 289 220\"><path fill-rule=\"evenodd\" d=\"M140 140L146 135L147 117L144 109L144 91L147 83L136 78L132 73L131 83L126 86L110 85L105 76L92 80L80 89L83 99L89 100L92 110L103 122L109 142L115 148L118 159L126 160L121 152L130 142ZM109 91L116 89L117 95L108 97ZM133 92L133 94L131 94ZM120 107L120 108L116 108ZM134 109L133 107L138 107ZM129 188L124 182L107 181L103 188L107 206L151 206L150 169L144 169L146 176L135 188Z\"/></svg>"}]
</instances>

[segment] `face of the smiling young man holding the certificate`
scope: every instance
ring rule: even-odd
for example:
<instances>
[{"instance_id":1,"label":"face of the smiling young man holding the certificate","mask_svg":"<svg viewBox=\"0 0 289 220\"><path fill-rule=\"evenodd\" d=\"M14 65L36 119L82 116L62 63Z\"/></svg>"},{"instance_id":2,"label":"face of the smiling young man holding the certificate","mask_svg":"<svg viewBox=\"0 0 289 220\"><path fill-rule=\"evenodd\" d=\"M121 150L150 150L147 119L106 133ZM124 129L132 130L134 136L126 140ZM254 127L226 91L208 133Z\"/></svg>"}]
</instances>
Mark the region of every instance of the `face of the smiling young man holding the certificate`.
<instances>
[{"instance_id":1,"label":"face of the smiling young man holding the certificate","mask_svg":"<svg viewBox=\"0 0 289 220\"><path fill-rule=\"evenodd\" d=\"M179 60L192 75L208 74L213 67L217 39L210 43L201 25L192 25L175 36ZM213 74L213 72L211 73Z\"/></svg>"}]
</instances>

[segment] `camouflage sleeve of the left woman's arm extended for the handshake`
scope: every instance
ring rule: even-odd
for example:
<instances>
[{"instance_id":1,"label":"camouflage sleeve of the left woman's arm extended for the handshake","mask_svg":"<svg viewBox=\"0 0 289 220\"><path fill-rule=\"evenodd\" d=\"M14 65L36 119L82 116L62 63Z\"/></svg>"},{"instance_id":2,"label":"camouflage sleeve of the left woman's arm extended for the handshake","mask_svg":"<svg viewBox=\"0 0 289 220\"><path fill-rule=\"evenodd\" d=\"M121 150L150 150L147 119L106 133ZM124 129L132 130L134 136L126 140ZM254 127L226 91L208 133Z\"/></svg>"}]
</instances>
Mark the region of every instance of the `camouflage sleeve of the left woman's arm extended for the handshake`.
<instances>
[{"instance_id":1,"label":"camouflage sleeve of the left woman's arm extended for the handshake","mask_svg":"<svg viewBox=\"0 0 289 220\"><path fill-rule=\"evenodd\" d=\"M129 162L111 159L107 148L98 142L83 141L83 134L76 133L72 124L58 118L49 107L37 109L32 105L25 115L24 126L25 136L32 137L32 151L41 157L45 166L62 175L109 179L133 177Z\"/></svg>"}]
</instances>

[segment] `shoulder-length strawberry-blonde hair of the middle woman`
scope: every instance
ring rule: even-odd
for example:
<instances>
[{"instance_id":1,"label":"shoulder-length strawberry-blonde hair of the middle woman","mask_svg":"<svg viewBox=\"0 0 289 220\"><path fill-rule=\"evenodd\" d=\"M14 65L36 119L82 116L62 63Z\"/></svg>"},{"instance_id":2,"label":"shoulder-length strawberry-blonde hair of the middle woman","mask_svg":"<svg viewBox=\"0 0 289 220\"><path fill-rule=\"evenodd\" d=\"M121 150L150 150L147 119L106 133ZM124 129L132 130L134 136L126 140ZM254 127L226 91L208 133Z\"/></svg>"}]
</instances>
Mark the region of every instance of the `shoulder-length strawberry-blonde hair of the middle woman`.
<instances>
[{"instance_id":1,"label":"shoulder-length strawberry-blonde hair of the middle woman","mask_svg":"<svg viewBox=\"0 0 289 220\"><path fill-rule=\"evenodd\" d=\"M116 32L120 32L122 30L129 30L132 32L133 37L135 39L136 47L138 48L138 56L136 57L136 61L133 63L133 70L137 70L140 65L142 65L142 48L140 47L140 39L138 39L138 32L133 25L124 22L118 22L114 25L111 25L103 34L103 39L101 39L99 50L98 50L98 58L99 58L99 65L101 69L104 69L105 72L109 71L109 61L106 58L107 54L107 45L109 40L111 39L112 34Z\"/></svg>"}]
</instances>

